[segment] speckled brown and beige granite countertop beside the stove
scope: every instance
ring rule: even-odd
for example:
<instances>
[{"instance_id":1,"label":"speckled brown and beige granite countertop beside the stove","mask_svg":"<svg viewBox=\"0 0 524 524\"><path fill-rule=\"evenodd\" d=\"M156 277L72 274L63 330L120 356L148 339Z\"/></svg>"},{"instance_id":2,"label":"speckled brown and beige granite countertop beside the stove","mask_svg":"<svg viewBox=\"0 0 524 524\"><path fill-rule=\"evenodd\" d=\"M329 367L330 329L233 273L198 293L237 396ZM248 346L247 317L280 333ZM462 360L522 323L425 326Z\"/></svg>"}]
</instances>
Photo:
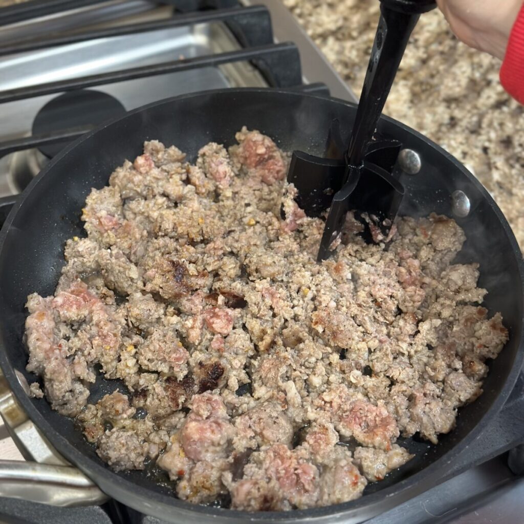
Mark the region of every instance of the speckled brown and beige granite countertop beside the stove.
<instances>
[{"instance_id":1,"label":"speckled brown and beige granite countertop beside the stove","mask_svg":"<svg viewBox=\"0 0 524 524\"><path fill-rule=\"evenodd\" d=\"M283 0L359 92L379 15L377 0ZM498 82L499 60L456 40L434 10L421 16L385 113L473 168L524 249L524 107Z\"/></svg>"}]
</instances>

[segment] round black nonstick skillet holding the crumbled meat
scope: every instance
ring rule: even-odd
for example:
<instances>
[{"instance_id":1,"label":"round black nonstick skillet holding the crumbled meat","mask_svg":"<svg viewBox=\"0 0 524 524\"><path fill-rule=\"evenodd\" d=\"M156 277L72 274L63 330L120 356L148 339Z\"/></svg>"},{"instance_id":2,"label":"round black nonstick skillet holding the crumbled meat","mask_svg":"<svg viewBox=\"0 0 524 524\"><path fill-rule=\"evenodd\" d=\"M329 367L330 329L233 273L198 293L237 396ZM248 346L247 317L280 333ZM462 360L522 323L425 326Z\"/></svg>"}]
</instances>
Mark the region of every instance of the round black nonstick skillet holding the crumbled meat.
<instances>
[{"instance_id":1,"label":"round black nonstick skillet holding the crumbled meat","mask_svg":"<svg viewBox=\"0 0 524 524\"><path fill-rule=\"evenodd\" d=\"M159 139L176 144L194 159L210 140L230 145L243 125L274 138L287 151L322 154L333 119L348 135L356 107L340 100L263 89L211 91L151 104L101 125L55 157L30 183L9 214L0 234L0 365L21 406L47 439L71 463L91 477L111 497L168 522L362 522L432 487L447 468L494 418L509 395L521 368L523 263L503 214L482 185L456 159L412 129L383 117L378 132L400 140L420 154L421 171L400 174L406 188L400 214L452 216L451 193L462 190L471 212L457 218L467 235L459 260L479 261L479 285L489 290L485 305L501 311L510 339L490 364L484 393L460 410L456 429L438 445L407 439L418 455L401 470L366 488L349 503L291 512L247 513L195 506L177 500L169 488L144 472L114 473L95 454L71 419L52 411L46 400L30 399L15 376L25 372L27 352L22 336L29 293L51 294L63 266L67 238L83 235L81 208L92 187L101 188L115 167L140 154L143 141ZM116 381L100 379L93 398L115 389Z\"/></svg>"}]
</instances>

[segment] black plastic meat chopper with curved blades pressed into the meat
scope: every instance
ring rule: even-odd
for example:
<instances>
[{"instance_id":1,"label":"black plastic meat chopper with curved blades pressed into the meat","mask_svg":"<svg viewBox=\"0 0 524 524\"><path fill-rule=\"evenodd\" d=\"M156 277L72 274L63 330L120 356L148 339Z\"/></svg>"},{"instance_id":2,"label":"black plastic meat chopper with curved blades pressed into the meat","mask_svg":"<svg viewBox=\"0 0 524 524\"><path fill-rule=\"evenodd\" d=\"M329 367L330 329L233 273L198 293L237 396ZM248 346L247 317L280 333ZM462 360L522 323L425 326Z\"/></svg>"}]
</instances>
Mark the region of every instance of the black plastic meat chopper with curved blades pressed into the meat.
<instances>
[{"instance_id":1,"label":"black plastic meat chopper with curved blades pressed into the meat","mask_svg":"<svg viewBox=\"0 0 524 524\"><path fill-rule=\"evenodd\" d=\"M341 233L346 213L368 224L374 241L387 239L404 188L393 176L401 143L374 140L378 118L395 79L409 36L432 0L381 0L373 49L358 104L350 144L344 152L339 122L329 130L325 157L293 151L288 182L298 190L297 203L308 216L330 208L317 256L322 261Z\"/></svg>"}]
</instances>

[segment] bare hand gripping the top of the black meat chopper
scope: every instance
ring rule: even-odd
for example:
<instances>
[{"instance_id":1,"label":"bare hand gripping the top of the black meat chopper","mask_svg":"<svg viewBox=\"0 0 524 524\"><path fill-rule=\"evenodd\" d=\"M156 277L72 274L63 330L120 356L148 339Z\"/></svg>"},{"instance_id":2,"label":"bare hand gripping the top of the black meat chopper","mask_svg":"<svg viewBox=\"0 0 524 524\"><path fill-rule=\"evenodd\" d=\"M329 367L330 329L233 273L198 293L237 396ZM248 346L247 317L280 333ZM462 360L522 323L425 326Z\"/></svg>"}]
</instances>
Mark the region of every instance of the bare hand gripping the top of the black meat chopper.
<instances>
[{"instance_id":1,"label":"bare hand gripping the top of the black meat chopper","mask_svg":"<svg viewBox=\"0 0 524 524\"><path fill-rule=\"evenodd\" d=\"M504 58L523 0L436 0L459 40Z\"/></svg>"}]
</instances>

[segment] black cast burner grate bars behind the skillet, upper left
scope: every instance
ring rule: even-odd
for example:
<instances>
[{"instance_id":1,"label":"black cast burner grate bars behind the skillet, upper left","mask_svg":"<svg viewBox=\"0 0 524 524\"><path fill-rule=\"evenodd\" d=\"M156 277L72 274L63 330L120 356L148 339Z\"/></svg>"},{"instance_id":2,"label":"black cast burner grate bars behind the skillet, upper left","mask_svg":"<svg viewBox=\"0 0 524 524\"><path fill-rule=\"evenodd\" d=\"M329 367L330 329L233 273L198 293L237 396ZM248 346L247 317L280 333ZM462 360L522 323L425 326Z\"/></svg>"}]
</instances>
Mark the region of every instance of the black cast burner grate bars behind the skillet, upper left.
<instances>
[{"instance_id":1,"label":"black cast burner grate bars behind the skillet, upper left","mask_svg":"<svg viewBox=\"0 0 524 524\"><path fill-rule=\"evenodd\" d=\"M101 3L101 1L30 0L0 9L0 28L3 25L58 13L61 10L95 5ZM4 90L0 91L0 104L196 68L218 67L219 65L235 62L249 62L253 64L271 88L302 89L309 92L329 94L329 90L323 84L302 84L302 71L297 46L292 42L274 43L271 17L266 7L238 7L238 3L235 0L173 0L152 3L172 4L177 8L178 12L171 18L162 21L128 24L109 29L86 30L70 35L50 35L45 38L27 38L11 41L0 46L0 56L64 46L99 38L133 35L148 31L216 22L224 23L230 29L242 46L241 49ZM90 125L74 128L64 126L61 129L56 129L55 126L52 133L37 134L0 142L0 158L14 151L33 147L46 146L49 148L54 146L51 148L56 149L57 145L65 145L91 128L92 126Z\"/></svg>"}]
</instances>

